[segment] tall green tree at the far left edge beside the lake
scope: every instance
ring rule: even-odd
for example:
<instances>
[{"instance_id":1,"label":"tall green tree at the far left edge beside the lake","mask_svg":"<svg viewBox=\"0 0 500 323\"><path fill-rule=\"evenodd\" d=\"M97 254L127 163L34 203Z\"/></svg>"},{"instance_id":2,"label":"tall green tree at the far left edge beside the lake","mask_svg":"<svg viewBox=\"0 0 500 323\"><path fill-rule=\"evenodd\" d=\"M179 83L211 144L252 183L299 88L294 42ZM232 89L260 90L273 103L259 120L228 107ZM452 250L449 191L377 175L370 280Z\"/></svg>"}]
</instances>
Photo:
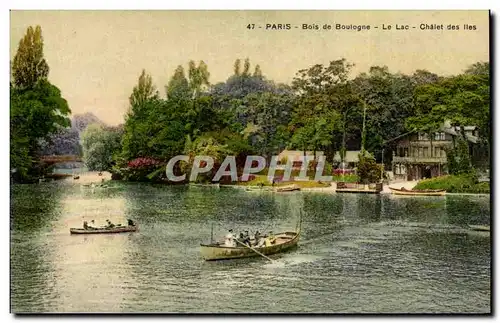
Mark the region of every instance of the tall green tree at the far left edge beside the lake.
<instances>
[{"instance_id":1,"label":"tall green tree at the far left edge beside the lake","mask_svg":"<svg viewBox=\"0 0 500 323\"><path fill-rule=\"evenodd\" d=\"M19 42L10 84L11 170L18 181L28 181L45 171L39 161L41 143L68 127L71 113L61 91L47 77L40 26L29 27Z\"/></svg>"}]
</instances>

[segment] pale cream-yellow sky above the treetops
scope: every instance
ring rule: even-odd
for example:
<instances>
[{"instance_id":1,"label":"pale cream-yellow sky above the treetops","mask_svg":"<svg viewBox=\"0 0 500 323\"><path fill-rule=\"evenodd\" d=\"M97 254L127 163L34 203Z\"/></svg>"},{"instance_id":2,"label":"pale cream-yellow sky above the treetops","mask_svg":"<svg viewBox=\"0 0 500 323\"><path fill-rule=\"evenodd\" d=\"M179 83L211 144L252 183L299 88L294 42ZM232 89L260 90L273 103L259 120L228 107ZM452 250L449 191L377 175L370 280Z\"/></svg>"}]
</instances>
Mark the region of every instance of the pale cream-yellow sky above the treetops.
<instances>
[{"instance_id":1,"label":"pale cream-yellow sky above the treetops","mask_svg":"<svg viewBox=\"0 0 500 323\"><path fill-rule=\"evenodd\" d=\"M247 29L249 24L255 28ZM266 30L266 24L291 24L291 29ZM302 24L319 30L303 30ZM322 29L325 24L333 29ZM336 30L336 24L370 25L370 30ZM384 30L383 24L392 28ZM421 30L421 24L444 30ZM476 29L464 30L464 24ZM187 68L189 60L208 65L212 84L233 73L237 58L249 58L252 70L259 64L264 76L284 83L300 69L341 58L355 64L352 77L384 65L391 72L454 75L489 61L488 11L13 10L11 59L30 25L42 27L49 80L72 113L92 112L110 125L124 121L142 69L164 95L175 68ZM448 25L460 29L447 30Z\"/></svg>"}]
</instances>

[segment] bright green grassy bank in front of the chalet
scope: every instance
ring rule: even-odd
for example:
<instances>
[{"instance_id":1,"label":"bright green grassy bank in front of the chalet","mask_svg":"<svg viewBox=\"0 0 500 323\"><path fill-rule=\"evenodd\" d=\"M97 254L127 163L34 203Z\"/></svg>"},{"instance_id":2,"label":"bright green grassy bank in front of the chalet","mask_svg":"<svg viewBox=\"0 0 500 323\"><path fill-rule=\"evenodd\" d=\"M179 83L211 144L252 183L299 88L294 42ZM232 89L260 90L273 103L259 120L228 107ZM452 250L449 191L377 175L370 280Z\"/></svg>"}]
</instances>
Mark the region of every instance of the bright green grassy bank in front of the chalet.
<instances>
[{"instance_id":1,"label":"bright green grassy bank in front of the chalet","mask_svg":"<svg viewBox=\"0 0 500 323\"><path fill-rule=\"evenodd\" d=\"M414 187L417 190L446 190L449 193L477 193L489 194L490 183L476 183L473 177L470 176L440 176L430 179L425 179Z\"/></svg>"}]
</instances>

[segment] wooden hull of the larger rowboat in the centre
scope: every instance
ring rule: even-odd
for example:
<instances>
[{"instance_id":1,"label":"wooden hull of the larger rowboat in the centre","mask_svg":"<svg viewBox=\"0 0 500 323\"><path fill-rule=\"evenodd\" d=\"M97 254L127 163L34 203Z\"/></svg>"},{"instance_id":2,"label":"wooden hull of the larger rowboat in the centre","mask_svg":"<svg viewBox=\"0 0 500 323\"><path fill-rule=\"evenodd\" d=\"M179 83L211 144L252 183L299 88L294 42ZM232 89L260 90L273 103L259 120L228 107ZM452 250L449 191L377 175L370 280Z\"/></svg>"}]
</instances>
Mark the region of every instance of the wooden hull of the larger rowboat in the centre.
<instances>
[{"instance_id":1,"label":"wooden hull of the larger rowboat in the centre","mask_svg":"<svg viewBox=\"0 0 500 323\"><path fill-rule=\"evenodd\" d=\"M300 238L300 233L297 232L282 232L275 235L277 238L277 243L269 247L254 248L263 255L273 255L276 253L281 253L288 251L297 246ZM279 241L282 241L281 243ZM218 246L215 244L202 244L201 245L201 256L207 261L212 260L226 260L226 259L238 259L238 258L249 258L260 256L255 251L247 247L225 247L223 245Z\"/></svg>"}]
</instances>

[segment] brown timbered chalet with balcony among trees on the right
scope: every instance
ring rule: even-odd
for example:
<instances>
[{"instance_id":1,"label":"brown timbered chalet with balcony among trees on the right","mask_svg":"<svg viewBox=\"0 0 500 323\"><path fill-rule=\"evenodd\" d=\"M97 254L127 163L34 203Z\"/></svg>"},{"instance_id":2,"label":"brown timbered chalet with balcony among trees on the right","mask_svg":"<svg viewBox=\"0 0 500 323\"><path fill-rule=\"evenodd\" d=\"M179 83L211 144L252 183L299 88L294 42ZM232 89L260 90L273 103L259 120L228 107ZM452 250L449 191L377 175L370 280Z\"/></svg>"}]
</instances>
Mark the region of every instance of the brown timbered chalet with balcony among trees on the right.
<instances>
[{"instance_id":1,"label":"brown timbered chalet with balcony among trees on the right","mask_svg":"<svg viewBox=\"0 0 500 323\"><path fill-rule=\"evenodd\" d=\"M443 126L433 134L432 140L428 134L419 132L399 137L392 152L394 179L411 181L447 174L446 151L452 147L453 137L459 132L459 127ZM477 127L465 126L464 132L469 142L478 142Z\"/></svg>"}]
</instances>

